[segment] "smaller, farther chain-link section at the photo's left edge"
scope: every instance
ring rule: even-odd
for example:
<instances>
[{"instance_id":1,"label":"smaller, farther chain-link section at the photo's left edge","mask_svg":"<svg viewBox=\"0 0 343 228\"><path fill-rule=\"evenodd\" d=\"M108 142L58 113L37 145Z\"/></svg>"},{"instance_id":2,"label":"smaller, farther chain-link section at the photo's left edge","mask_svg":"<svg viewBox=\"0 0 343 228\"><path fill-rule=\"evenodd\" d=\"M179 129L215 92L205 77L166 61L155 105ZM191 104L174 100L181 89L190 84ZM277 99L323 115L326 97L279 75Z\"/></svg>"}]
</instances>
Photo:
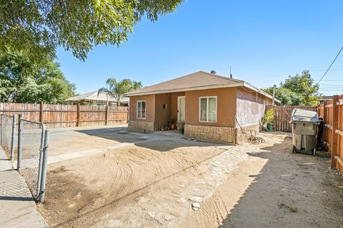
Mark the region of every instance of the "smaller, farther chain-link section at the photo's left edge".
<instances>
[{"instance_id":1,"label":"smaller, farther chain-link section at the photo's left edge","mask_svg":"<svg viewBox=\"0 0 343 228\"><path fill-rule=\"evenodd\" d=\"M14 133L16 127L16 116L1 114L0 120L0 142L6 157L9 160L14 158Z\"/></svg>"}]
</instances>

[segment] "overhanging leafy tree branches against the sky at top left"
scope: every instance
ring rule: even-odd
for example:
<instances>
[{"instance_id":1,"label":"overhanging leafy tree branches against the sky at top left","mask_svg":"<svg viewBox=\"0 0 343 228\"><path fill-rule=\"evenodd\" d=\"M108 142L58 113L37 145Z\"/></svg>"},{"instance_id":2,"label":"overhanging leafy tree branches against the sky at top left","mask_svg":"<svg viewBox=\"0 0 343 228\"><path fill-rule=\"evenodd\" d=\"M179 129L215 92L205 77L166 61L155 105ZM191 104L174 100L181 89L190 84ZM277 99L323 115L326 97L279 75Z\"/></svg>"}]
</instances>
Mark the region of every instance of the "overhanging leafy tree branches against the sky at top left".
<instances>
[{"instance_id":1,"label":"overhanging leafy tree branches against the sky at top left","mask_svg":"<svg viewBox=\"0 0 343 228\"><path fill-rule=\"evenodd\" d=\"M182 0L16 0L0 2L0 52L28 51L30 58L54 59L64 47L84 60L93 46L127 40L146 15L156 21Z\"/></svg>"}]
</instances>

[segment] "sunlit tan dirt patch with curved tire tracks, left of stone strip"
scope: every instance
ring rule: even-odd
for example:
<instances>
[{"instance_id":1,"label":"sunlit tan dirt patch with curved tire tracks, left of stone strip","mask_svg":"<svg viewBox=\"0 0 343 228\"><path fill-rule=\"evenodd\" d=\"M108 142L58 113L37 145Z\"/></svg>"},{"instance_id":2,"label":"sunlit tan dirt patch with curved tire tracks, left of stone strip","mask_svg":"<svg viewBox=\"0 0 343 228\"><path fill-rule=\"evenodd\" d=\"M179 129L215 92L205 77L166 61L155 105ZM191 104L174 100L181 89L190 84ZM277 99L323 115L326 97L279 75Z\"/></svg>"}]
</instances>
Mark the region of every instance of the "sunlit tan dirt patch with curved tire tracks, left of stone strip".
<instances>
[{"instance_id":1,"label":"sunlit tan dirt patch with curved tire tracks, left of stone strip","mask_svg":"<svg viewBox=\"0 0 343 228\"><path fill-rule=\"evenodd\" d=\"M151 150L149 145L128 146L109 150L105 154L66 160L49 166L51 171L46 204L41 208L42 214L51 227L92 226L109 212L136 203L151 187L156 194L163 192L172 185L170 181L162 181L165 178L197 174L199 162L223 151L215 147L204 149L194 146L194 143L168 143L172 144L171 150ZM73 171L68 175L55 172L61 166L73 167ZM69 180L73 175L74 180ZM61 178L62 176L64 178ZM52 186L49 185L51 180L60 181ZM70 188L62 192L59 185L65 184ZM81 195L80 200L83 203L77 201L76 205L69 208L68 214L64 213L69 207L67 202L77 195ZM56 203L59 201L60 204ZM51 214L49 211L55 213Z\"/></svg>"}]
</instances>

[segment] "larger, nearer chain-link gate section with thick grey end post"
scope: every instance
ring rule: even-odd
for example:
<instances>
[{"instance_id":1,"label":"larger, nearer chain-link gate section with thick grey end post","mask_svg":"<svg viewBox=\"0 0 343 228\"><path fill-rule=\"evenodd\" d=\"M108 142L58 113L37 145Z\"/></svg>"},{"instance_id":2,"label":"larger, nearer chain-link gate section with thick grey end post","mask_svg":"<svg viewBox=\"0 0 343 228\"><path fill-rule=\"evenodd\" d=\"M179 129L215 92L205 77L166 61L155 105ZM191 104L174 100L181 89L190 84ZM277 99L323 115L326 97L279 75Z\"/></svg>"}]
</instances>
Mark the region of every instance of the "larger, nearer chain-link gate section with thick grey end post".
<instances>
[{"instance_id":1,"label":"larger, nearer chain-link gate section with thick grey end post","mask_svg":"<svg viewBox=\"0 0 343 228\"><path fill-rule=\"evenodd\" d=\"M43 123L19 115L18 170L36 201L44 200L48 132Z\"/></svg>"}]
</instances>

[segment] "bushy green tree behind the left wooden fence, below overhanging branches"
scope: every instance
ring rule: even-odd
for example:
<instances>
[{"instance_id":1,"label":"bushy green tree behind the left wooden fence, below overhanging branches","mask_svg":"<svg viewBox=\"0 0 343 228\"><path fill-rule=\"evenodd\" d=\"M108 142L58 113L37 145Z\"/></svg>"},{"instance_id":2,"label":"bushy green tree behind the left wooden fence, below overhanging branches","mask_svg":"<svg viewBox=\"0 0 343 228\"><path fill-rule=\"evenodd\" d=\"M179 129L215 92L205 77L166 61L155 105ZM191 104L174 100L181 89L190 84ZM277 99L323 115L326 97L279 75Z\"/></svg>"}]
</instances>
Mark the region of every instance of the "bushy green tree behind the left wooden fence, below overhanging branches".
<instances>
[{"instance_id":1,"label":"bushy green tree behind the left wooden fence, below overhanging branches","mask_svg":"<svg viewBox=\"0 0 343 228\"><path fill-rule=\"evenodd\" d=\"M0 101L15 103L64 103L75 86L66 80L59 63L35 63L26 52L0 54Z\"/></svg>"}]
</instances>

